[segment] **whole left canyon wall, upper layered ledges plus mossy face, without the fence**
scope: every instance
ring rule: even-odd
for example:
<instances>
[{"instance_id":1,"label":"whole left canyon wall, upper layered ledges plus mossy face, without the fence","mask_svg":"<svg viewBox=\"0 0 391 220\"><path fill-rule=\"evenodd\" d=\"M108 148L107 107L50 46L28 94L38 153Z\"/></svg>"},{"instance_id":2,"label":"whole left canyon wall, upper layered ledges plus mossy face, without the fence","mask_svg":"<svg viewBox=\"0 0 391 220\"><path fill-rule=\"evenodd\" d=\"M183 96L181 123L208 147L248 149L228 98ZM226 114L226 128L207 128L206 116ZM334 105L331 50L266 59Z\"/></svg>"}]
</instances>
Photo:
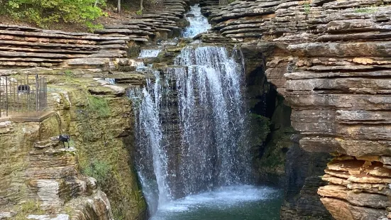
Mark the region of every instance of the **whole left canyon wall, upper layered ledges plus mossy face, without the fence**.
<instances>
[{"instance_id":1,"label":"whole left canyon wall, upper layered ledges plus mossy face, without the fence","mask_svg":"<svg viewBox=\"0 0 391 220\"><path fill-rule=\"evenodd\" d=\"M188 4L165 1L94 34L0 24L1 84L36 74L48 82L43 112L0 118L0 219L148 217L126 89L145 83L140 45L179 35ZM70 148L56 140L65 133Z\"/></svg>"}]
</instances>

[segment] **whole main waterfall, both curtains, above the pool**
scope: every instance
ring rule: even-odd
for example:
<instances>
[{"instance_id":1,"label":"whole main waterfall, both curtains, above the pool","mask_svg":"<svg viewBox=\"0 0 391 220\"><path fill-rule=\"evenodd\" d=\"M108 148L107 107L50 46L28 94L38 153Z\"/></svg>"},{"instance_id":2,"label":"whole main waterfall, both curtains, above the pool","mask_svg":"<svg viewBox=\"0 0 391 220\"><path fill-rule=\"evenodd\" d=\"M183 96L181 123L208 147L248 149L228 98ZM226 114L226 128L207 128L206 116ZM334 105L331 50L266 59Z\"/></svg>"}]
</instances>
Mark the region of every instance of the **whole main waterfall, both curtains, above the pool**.
<instances>
[{"instance_id":1,"label":"whole main waterfall, both curtains, above the pool","mask_svg":"<svg viewBox=\"0 0 391 220\"><path fill-rule=\"evenodd\" d=\"M234 55L187 46L131 93L136 167L152 213L171 199L248 181L244 73Z\"/></svg>"}]
</instances>

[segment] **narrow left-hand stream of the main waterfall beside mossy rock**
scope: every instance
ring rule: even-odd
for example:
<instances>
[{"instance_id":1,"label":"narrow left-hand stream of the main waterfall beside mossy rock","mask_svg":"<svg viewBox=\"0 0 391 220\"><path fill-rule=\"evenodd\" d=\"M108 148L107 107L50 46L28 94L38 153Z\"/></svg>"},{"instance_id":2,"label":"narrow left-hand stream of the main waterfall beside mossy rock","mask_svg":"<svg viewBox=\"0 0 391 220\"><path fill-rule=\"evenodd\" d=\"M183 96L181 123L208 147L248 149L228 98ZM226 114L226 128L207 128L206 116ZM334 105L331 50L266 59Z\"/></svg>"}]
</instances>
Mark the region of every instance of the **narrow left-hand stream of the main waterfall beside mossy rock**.
<instances>
[{"instance_id":1,"label":"narrow left-hand stream of the main waterfall beside mossy rock","mask_svg":"<svg viewBox=\"0 0 391 220\"><path fill-rule=\"evenodd\" d=\"M136 119L136 168L141 177L148 207L154 212L158 204L172 199L167 185L167 154L162 148L163 131L159 119L160 99L165 89L160 84L160 72L153 71L146 86L129 92ZM158 189L158 190L156 190Z\"/></svg>"}]
</instances>

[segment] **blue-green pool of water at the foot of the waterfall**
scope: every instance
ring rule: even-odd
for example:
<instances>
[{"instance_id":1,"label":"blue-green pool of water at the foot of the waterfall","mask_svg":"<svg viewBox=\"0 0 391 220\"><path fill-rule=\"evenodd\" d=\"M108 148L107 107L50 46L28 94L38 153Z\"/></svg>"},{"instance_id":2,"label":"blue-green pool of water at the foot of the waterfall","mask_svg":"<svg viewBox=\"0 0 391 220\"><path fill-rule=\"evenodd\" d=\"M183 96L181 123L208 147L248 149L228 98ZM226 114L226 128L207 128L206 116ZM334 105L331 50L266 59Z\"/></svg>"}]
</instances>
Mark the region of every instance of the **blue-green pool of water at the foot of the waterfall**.
<instances>
[{"instance_id":1,"label":"blue-green pool of water at the foot of the waterfall","mask_svg":"<svg viewBox=\"0 0 391 220\"><path fill-rule=\"evenodd\" d=\"M153 220L278 220L282 191L248 185L222 187L160 205Z\"/></svg>"}]
</instances>

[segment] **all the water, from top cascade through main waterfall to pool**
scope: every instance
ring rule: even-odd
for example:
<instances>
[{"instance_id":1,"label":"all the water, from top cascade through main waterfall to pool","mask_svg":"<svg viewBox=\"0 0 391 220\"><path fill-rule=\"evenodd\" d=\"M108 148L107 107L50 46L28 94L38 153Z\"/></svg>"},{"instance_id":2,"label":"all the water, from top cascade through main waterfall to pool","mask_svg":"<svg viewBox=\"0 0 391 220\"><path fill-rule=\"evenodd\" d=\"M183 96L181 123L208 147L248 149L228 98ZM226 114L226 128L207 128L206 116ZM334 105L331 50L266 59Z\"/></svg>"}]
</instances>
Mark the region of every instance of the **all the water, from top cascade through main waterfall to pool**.
<instances>
[{"instance_id":1,"label":"all the water, from top cascade through main waterfall to pool","mask_svg":"<svg viewBox=\"0 0 391 220\"><path fill-rule=\"evenodd\" d=\"M198 5L189 13L184 37L210 28ZM143 50L140 57L159 52ZM280 191L249 185L240 50L189 44L164 73L142 70L147 83L129 97L151 219L279 219Z\"/></svg>"}]
</instances>

